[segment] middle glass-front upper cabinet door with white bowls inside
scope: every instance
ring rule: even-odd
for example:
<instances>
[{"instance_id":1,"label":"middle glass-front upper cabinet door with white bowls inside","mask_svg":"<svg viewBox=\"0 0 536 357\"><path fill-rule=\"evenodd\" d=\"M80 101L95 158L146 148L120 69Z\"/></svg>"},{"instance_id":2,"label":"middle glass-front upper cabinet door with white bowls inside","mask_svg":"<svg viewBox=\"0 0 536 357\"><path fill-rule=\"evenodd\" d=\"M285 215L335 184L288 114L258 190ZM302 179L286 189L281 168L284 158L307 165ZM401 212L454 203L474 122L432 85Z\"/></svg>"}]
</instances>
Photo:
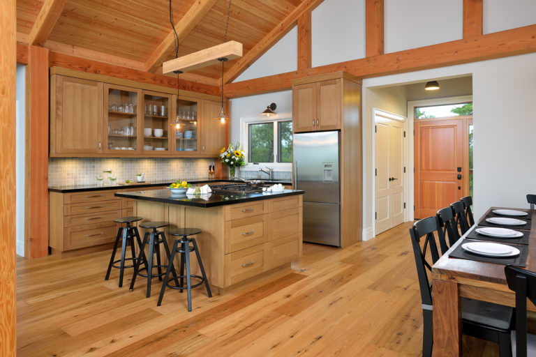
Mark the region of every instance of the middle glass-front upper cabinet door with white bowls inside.
<instances>
[{"instance_id":1,"label":"middle glass-front upper cabinet door with white bowls inside","mask_svg":"<svg viewBox=\"0 0 536 357\"><path fill-rule=\"evenodd\" d=\"M143 92L143 152L170 153L171 96Z\"/></svg>"}]
</instances>

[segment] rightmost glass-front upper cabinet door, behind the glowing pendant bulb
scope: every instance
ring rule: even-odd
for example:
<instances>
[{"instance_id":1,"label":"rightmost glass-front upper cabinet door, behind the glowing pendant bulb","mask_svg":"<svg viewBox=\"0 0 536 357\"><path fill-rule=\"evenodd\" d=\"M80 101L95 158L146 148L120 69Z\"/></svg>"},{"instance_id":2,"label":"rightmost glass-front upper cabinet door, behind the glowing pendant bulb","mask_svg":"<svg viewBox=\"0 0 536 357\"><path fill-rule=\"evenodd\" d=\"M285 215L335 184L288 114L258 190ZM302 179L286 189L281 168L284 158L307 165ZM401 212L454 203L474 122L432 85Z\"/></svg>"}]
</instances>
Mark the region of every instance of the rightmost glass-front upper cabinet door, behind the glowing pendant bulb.
<instances>
[{"instance_id":1,"label":"rightmost glass-front upper cabinet door, behind the glowing pendant bulb","mask_svg":"<svg viewBox=\"0 0 536 357\"><path fill-rule=\"evenodd\" d=\"M188 98L175 99L175 118L172 122L173 147L175 153L197 153L199 151L198 101Z\"/></svg>"}]
</instances>

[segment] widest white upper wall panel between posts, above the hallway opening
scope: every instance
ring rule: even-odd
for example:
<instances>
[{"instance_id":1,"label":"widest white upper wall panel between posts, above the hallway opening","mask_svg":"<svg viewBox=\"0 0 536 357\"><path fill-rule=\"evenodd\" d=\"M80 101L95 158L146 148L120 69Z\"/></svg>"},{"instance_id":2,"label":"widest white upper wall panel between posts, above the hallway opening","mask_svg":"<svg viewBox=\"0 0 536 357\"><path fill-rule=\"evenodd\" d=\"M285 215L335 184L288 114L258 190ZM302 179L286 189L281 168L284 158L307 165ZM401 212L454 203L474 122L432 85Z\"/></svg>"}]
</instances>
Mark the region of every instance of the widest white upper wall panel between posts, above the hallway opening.
<instances>
[{"instance_id":1,"label":"widest white upper wall panel between posts, above the hallway opening","mask_svg":"<svg viewBox=\"0 0 536 357\"><path fill-rule=\"evenodd\" d=\"M385 0L385 53L462 38L462 0Z\"/></svg>"}]
</instances>

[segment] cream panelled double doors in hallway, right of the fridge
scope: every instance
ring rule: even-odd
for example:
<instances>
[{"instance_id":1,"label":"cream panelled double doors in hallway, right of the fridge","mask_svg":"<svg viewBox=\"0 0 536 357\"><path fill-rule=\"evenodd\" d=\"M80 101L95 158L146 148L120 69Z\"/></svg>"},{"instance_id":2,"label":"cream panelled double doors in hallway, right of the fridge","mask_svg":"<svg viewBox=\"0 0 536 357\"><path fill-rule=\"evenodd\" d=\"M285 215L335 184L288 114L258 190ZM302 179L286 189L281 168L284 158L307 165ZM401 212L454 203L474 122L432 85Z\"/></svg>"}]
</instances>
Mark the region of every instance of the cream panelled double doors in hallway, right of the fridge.
<instances>
[{"instance_id":1,"label":"cream panelled double doors in hallway, right of the fridge","mask_svg":"<svg viewBox=\"0 0 536 357\"><path fill-rule=\"evenodd\" d=\"M404 222L405 122L375 114L375 234Z\"/></svg>"}]
</instances>

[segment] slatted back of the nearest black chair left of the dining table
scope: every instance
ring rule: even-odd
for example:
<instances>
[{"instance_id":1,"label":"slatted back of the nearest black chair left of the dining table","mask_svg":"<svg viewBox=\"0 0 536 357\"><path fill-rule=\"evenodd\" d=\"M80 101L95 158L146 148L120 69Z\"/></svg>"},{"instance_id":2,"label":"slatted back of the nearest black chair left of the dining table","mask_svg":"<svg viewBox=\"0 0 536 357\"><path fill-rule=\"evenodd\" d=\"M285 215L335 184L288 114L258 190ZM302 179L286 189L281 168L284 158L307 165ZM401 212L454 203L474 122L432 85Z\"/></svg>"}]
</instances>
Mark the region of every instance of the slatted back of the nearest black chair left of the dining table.
<instances>
[{"instance_id":1,"label":"slatted back of the nearest black chair left of the dining table","mask_svg":"<svg viewBox=\"0 0 536 357\"><path fill-rule=\"evenodd\" d=\"M432 293L430 282L426 270L432 271L432 265L439 259L438 247L435 245L435 236L433 232L438 231L436 217L424 218L415 222L410 228L411 243L413 254L415 255L415 264L417 266L417 276L419 277L419 286L421 288L421 300L425 305L432 305ZM421 239L424 243L421 248ZM429 249L432 261L426 261L426 250Z\"/></svg>"}]
</instances>

